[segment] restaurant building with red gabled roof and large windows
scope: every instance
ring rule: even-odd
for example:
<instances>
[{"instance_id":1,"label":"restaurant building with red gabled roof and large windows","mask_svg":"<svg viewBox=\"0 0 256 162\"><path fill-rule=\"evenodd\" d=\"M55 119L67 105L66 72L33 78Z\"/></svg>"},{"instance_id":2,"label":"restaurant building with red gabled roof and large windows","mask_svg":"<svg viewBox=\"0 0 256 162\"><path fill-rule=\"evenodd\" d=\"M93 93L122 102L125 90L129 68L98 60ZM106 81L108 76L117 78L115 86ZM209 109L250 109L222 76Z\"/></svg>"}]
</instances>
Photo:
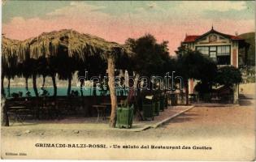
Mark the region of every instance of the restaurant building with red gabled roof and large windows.
<instances>
[{"instance_id":1,"label":"restaurant building with red gabled roof and large windows","mask_svg":"<svg viewBox=\"0 0 256 162\"><path fill-rule=\"evenodd\" d=\"M217 66L235 66L236 68L244 64L249 48L241 37L217 32L214 28L200 36L186 35L181 46L201 52L215 61ZM189 94L195 93L196 83L196 80L189 80Z\"/></svg>"}]
</instances>

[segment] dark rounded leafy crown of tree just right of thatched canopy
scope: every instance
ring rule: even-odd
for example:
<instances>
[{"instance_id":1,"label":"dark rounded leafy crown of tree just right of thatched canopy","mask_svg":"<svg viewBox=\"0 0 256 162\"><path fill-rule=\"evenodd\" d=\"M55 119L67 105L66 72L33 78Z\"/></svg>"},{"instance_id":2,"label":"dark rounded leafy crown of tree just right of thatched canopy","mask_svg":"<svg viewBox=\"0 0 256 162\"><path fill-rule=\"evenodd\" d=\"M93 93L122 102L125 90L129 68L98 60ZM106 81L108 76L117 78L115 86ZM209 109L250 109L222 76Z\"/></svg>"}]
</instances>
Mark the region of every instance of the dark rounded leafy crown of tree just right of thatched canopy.
<instances>
[{"instance_id":1,"label":"dark rounded leafy crown of tree just right of thatched canopy","mask_svg":"<svg viewBox=\"0 0 256 162\"><path fill-rule=\"evenodd\" d=\"M158 44L154 36L147 34L137 40L129 38L125 44L130 46L133 57L133 70L140 75L164 75L167 72L170 56L167 41Z\"/></svg>"}]
</instances>

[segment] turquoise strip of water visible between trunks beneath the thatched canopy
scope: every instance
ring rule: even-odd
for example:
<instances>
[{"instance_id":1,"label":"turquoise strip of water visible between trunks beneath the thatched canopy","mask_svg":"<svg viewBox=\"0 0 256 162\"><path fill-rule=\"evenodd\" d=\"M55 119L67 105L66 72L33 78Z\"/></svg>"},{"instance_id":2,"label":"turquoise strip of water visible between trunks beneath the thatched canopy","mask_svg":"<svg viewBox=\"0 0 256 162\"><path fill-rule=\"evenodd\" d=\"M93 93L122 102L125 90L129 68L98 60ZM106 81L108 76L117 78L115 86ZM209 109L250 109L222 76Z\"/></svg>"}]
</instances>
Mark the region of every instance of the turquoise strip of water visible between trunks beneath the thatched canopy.
<instances>
[{"instance_id":1,"label":"turquoise strip of water visible between trunks beneath the thatched canopy","mask_svg":"<svg viewBox=\"0 0 256 162\"><path fill-rule=\"evenodd\" d=\"M41 89L37 88L37 91L39 92ZM50 93L50 96L54 94L54 87L46 87L46 90ZM80 87L72 87L72 90L78 91L80 96ZM35 92L33 90L33 87L28 87L28 91L31 93L31 96L35 96ZM26 94L26 89L24 87L11 87L10 88L10 94L13 92L23 92L23 96ZM116 90L117 96L120 96L121 90ZM124 91L123 91L124 92ZM7 94L7 88L5 87L5 93ZM83 94L84 96L93 96L93 88L83 88ZM101 95L101 92L99 89L96 90L97 96ZM109 92L107 92L109 94ZM124 95L127 96L128 93L124 92ZM67 87L58 87L57 88L57 96L67 96Z\"/></svg>"}]
</instances>

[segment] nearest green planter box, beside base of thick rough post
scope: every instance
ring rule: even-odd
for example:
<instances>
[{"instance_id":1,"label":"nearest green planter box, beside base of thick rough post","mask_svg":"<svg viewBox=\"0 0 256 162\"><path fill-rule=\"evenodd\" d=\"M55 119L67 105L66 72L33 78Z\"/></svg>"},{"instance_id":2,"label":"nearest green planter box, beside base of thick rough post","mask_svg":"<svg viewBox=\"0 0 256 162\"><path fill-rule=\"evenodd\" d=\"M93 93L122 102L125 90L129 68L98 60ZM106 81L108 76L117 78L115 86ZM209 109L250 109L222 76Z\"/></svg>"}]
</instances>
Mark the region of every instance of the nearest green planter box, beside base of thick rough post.
<instances>
[{"instance_id":1,"label":"nearest green planter box, beside base of thick rough post","mask_svg":"<svg viewBox=\"0 0 256 162\"><path fill-rule=\"evenodd\" d=\"M116 127L132 128L133 104L128 105L128 100L121 101L116 109Z\"/></svg>"}]
</instances>

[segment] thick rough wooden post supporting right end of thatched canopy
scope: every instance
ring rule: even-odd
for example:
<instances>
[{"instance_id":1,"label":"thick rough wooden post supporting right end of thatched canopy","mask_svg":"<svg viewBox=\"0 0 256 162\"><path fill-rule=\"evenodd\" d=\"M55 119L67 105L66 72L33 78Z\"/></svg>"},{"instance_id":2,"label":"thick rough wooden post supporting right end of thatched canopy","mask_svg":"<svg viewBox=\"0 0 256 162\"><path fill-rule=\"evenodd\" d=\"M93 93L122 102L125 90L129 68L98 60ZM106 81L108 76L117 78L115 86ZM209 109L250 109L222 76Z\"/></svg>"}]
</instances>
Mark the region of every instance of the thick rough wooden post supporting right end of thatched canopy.
<instances>
[{"instance_id":1,"label":"thick rough wooden post supporting right end of thatched canopy","mask_svg":"<svg viewBox=\"0 0 256 162\"><path fill-rule=\"evenodd\" d=\"M111 121L110 126L115 128L115 109L117 107L117 99L115 94L115 58L108 56L107 58L108 85L111 92Z\"/></svg>"}]
</instances>

